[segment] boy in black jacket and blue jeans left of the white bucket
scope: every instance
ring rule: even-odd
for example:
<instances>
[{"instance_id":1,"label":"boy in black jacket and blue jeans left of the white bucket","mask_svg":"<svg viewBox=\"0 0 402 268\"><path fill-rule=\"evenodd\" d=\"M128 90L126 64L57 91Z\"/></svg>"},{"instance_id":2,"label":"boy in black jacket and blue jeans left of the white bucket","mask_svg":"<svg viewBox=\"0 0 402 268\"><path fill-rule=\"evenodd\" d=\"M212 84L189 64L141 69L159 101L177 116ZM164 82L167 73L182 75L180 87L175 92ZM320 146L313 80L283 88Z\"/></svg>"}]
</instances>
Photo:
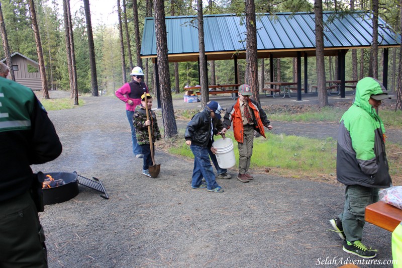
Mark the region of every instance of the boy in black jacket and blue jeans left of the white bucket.
<instances>
[{"instance_id":1,"label":"boy in black jacket and blue jeans left of the white bucket","mask_svg":"<svg viewBox=\"0 0 402 268\"><path fill-rule=\"evenodd\" d=\"M208 192L222 193L224 190L216 182L214 170L211 165L209 150L216 152L212 147L214 135L225 132L226 129L217 129L214 118L220 119L217 112L219 104L215 101L209 103L202 112L195 114L185 129L185 143L190 146L194 154L194 168L192 170L191 187L207 188ZM221 125L222 128L222 125ZM203 177L207 185L202 183Z\"/></svg>"}]
</instances>

